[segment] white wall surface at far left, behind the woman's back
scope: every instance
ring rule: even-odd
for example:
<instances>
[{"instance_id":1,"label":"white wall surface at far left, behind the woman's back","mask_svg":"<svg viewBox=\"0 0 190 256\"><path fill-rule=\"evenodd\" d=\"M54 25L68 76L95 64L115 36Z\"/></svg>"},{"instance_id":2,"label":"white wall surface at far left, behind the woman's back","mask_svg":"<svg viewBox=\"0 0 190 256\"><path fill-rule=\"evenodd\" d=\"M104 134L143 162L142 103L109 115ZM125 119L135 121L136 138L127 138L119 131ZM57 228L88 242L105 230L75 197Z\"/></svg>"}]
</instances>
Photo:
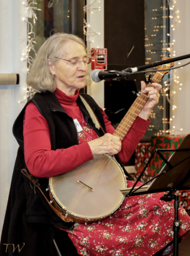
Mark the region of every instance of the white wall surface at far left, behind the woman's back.
<instances>
[{"instance_id":1,"label":"white wall surface at far left, behind the woman's back","mask_svg":"<svg viewBox=\"0 0 190 256\"><path fill-rule=\"evenodd\" d=\"M26 49L26 22L22 20L26 7L22 2L0 0L0 73L20 75L20 84L0 85L0 233L18 148L12 125L25 104L18 101L26 96L27 65L20 60Z\"/></svg>"}]
</instances>

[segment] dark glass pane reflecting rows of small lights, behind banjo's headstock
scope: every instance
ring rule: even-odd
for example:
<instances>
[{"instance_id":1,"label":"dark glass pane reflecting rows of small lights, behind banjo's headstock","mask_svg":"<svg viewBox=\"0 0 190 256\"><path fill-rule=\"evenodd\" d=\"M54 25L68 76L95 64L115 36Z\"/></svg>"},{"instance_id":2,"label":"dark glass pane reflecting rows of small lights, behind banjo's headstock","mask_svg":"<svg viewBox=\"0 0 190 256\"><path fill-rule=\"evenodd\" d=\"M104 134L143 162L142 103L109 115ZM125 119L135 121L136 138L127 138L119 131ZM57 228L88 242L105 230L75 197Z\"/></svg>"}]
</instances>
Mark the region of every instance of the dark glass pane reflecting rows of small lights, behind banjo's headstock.
<instances>
[{"instance_id":1,"label":"dark glass pane reflecting rows of small lights, behind banjo's headstock","mask_svg":"<svg viewBox=\"0 0 190 256\"><path fill-rule=\"evenodd\" d=\"M145 64L161 61L163 57L169 57L169 6L166 0L145 0ZM157 67L151 68L157 70ZM147 73L149 75L150 73ZM153 75L152 75L153 77ZM163 135L169 129L170 106L167 102L167 81L169 75L161 80L159 104L153 109L144 140L150 140L152 135Z\"/></svg>"}]
</instances>

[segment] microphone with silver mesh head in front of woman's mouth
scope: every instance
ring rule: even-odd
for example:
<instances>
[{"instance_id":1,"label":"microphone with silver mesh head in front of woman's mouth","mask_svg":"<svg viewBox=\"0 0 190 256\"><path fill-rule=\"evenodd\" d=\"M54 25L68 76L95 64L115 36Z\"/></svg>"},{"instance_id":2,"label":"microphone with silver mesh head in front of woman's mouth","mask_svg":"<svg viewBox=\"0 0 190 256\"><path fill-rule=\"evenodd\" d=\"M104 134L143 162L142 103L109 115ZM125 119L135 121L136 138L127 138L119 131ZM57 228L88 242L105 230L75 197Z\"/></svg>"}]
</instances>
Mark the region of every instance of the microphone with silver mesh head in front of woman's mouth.
<instances>
[{"instance_id":1,"label":"microphone with silver mesh head in front of woman's mouth","mask_svg":"<svg viewBox=\"0 0 190 256\"><path fill-rule=\"evenodd\" d=\"M91 72L91 79L94 82L98 83L98 82L100 82L101 80L104 80L104 79L118 78L119 76L121 76L120 73L121 72L116 71L116 70L102 71L102 70L99 70L99 69L95 69Z\"/></svg>"}]
</instances>

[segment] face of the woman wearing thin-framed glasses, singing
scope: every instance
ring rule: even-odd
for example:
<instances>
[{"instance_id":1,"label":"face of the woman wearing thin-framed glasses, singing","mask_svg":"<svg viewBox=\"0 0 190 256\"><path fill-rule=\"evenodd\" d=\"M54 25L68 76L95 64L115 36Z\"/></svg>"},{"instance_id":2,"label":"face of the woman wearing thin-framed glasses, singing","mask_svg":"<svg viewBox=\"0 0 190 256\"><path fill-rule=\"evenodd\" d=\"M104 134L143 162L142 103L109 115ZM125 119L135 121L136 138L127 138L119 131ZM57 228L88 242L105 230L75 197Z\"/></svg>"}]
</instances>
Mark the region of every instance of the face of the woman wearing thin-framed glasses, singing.
<instances>
[{"instance_id":1,"label":"face of the woman wearing thin-framed glasses, singing","mask_svg":"<svg viewBox=\"0 0 190 256\"><path fill-rule=\"evenodd\" d=\"M82 60L87 57L85 48L76 41L68 40L62 46L60 56L68 61L59 59L55 65L48 60L50 73L54 75L56 87L62 90L66 95L74 95L77 89L85 87L85 78L87 74L87 65ZM77 66L73 66L73 60L79 60Z\"/></svg>"}]
</instances>

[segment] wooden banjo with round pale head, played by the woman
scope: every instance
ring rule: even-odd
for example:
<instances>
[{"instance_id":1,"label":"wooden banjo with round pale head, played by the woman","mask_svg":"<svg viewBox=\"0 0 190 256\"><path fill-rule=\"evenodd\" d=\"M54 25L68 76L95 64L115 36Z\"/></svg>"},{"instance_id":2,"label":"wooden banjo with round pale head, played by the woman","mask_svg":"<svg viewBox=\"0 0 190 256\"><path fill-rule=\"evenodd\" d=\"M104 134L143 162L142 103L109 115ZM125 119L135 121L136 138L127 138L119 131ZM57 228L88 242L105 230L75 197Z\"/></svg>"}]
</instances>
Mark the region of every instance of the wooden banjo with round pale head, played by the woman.
<instances>
[{"instance_id":1,"label":"wooden banjo with round pale head, played by the woman","mask_svg":"<svg viewBox=\"0 0 190 256\"><path fill-rule=\"evenodd\" d=\"M170 58L162 58L170 59ZM158 83L174 63L158 67L147 87ZM137 93L137 98L114 131L120 141L149 99L148 93ZM50 203L65 216L65 221L90 224L113 215L122 205L125 197L120 189L127 187L125 173L117 161L108 154L94 155L94 158L77 168L49 178Z\"/></svg>"}]
</instances>

